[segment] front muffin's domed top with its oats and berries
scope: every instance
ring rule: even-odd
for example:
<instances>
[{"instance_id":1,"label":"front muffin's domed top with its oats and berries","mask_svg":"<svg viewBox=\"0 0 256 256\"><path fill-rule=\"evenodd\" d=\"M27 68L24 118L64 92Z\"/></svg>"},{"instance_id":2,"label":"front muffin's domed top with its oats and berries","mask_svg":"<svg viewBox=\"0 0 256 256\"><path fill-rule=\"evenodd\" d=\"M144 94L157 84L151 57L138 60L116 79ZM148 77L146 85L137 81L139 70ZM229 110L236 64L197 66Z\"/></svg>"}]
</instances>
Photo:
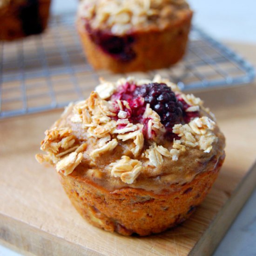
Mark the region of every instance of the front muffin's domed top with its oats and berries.
<instances>
[{"instance_id":1,"label":"front muffin's domed top with its oats and berries","mask_svg":"<svg viewBox=\"0 0 256 256\"><path fill-rule=\"evenodd\" d=\"M214 115L168 80L103 81L46 131L39 162L105 187L160 191L213 170L225 139Z\"/></svg>"}]
</instances>

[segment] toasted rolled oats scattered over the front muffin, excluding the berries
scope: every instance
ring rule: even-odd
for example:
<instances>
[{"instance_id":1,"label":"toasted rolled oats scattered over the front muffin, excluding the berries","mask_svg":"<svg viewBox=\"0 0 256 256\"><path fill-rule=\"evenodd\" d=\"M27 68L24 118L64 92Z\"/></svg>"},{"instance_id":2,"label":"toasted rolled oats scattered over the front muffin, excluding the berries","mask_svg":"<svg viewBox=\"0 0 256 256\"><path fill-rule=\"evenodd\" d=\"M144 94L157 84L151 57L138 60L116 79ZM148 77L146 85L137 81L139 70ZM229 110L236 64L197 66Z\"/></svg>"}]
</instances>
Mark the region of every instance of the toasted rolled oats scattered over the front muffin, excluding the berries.
<instances>
[{"instance_id":1,"label":"toasted rolled oats scattered over the front muffin, excluding the berries","mask_svg":"<svg viewBox=\"0 0 256 256\"><path fill-rule=\"evenodd\" d=\"M156 76L154 82L162 82L171 87L178 97L181 97L190 107L187 111L201 111L206 113L202 101L193 94L183 94L175 84ZM122 182L131 184L147 167L160 168L165 158L178 161L179 157L191 148L197 148L207 154L217 141L215 133L216 123L208 116L193 118L189 123L175 124L173 133L176 138L163 147L165 128L159 115L147 104L143 118L147 125L133 123L128 119L130 109L128 101L111 100L117 88L126 82L140 86L152 81L136 80L135 78L120 79L116 83L101 80L85 101L70 104L66 113L72 125L66 128L52 128L46 131L46 137L41 142L41 150L46 155L37 155L39 162L50 162L58 172L68 175L89 157L91 166L97 166L97 161L105 155L114 152L123 143L128 143L128 155L110 163L106 170L110 175L120 178ZM200 112L200 113L201 113ZM209 111L208 111L209 112ZM68 121L66 121L68 124ZM78 139L70 127L79 127L83 140ZM87 140L94 138L93 146L88 147ZM115 154L115 153L114 153ZM92 175L100 177L89 169ZM88 171L89 171L88 170Z\"/></svg>"}]
</instances>

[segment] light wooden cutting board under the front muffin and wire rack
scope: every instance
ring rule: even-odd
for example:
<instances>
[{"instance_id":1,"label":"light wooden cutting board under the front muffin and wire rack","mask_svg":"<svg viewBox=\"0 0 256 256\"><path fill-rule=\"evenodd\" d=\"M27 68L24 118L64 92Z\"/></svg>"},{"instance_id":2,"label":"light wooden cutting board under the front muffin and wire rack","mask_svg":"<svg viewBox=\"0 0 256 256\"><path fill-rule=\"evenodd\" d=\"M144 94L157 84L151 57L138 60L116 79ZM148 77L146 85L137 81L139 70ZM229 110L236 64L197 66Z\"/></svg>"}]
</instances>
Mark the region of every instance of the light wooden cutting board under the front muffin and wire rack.
<instances>
[{"instance_id":1,"label":"light wooden cutting board under the front muffin and wire rack","mask_svg":"<svg viewBox=\"0 0 256 256\"><path fill-rule=\"evenodd\" d=\"M236 49L256 63L256 47ZM254 55L253 55L254 54ZM35 161L60 110L0 121L0 241L24 254L209 255L256 185L256 83L196 93L227 138L226 160L189 220L155 236L125 237L94 228L75 211L54 169Z\"/></svg>"}]
</instances>

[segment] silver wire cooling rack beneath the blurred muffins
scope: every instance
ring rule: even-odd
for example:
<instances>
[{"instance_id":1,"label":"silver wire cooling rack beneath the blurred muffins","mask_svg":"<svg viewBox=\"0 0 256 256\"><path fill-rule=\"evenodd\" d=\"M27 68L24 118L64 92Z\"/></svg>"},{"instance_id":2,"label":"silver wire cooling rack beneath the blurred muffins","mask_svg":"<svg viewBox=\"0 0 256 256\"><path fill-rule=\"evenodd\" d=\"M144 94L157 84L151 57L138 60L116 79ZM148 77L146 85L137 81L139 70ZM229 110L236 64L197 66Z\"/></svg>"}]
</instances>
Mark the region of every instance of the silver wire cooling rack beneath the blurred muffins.
<instances>
[{"instance_id":1,"label":"silver wire cooling rack beneath the blurred muffins","mask_svg":"<svg viewBox=\"0 0 256 256\"><path fill-rule=\"evenodd\" d=\"M188 52L172 68L148 73L96 72L82 52L74 14L52 18L47 32L24 40L0 43L0 119L61 108L88 96L99 76L115 81L125 75L152 78L156 73L182 90L249 83L253 67L197 27Z\"/></svg>"}]
</instances>

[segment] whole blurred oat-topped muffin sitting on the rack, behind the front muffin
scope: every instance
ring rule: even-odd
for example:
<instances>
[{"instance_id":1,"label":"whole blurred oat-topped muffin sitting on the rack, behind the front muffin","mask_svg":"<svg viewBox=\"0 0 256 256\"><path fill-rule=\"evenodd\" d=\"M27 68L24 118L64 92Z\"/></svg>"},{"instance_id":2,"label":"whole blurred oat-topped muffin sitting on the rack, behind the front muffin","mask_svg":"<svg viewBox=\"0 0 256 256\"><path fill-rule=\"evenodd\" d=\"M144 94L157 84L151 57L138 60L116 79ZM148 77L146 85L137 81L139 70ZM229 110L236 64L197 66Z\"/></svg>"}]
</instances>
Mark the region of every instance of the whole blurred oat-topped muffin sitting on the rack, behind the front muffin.
<instances>
[{"instance_id":1,"label":"whole blurred oat-topped muffin sitting on the rack, behind the front muffin","mask_svg":"<svg viewBox=\"0 0 256 256\"><path fill-rule=\"evenodd\" d=\"M192 14L185 0L82 0L77 27L95 69L146 71L182 59Z\"/></svg>"}]
</instances>

